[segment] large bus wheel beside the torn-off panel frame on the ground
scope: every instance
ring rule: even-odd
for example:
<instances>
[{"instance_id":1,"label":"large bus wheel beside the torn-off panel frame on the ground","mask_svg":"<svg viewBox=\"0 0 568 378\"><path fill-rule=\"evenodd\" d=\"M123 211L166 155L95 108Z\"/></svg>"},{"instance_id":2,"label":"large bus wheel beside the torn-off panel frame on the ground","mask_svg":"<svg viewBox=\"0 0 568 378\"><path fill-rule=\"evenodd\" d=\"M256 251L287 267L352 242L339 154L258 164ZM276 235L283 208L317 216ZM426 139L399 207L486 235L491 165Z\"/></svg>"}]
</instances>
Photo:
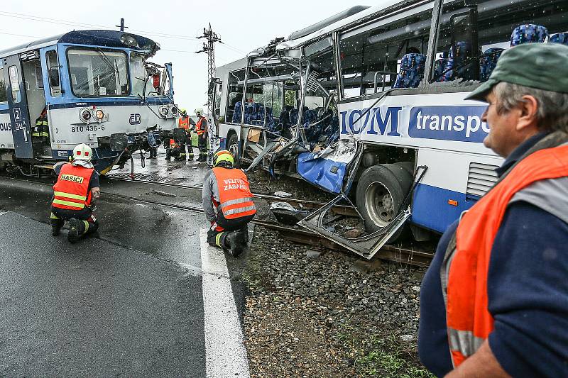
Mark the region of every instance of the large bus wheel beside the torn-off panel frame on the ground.
<instances>
[{"instance_id":1,"label":"large bus wheel beside the torn-off panel frame on the ground","mask_svg":"<svg viewBox=\"0 0 568 378\"><path fill-rule=\"evenodd\" d=\"M357 209L364 218L368 233L381 230L398 215L410 190L413 178L400 164L373 165L365 169L357 184ZM389 243L395 241L401 227Z\"/></svg>"}]
</instances>

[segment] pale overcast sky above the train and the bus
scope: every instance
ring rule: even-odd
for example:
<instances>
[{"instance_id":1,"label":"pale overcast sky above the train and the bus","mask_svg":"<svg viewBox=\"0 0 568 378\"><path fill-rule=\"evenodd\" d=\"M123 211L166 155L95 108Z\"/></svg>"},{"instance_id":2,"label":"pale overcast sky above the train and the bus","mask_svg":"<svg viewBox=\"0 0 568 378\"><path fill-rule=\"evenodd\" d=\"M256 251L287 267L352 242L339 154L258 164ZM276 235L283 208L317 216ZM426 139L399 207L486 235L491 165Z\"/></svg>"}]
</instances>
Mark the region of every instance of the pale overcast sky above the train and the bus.
<instances>
[{"instance_id":1,"label":"pale overcast sky above the train and the bus","mask_svg":"<svg viewBox=\"0 0 568 378\"><path fill-rule=\"evenodd\" d=\"M339 0L286 1L38 1L1 0L0 50L38 38L87 28L117 29L144 35L162 48L151 59L172 62L174 99L192 112L207 101L207 56L195 54L203 40L194 40L210 22L226 45L217 44L217 66L244 57L276 37L290 35L355 5L376 3ZM43 21L38 21L41 18ZM89 24L84 25L84 24ZM136 32L135 32L136 30ZM166 38L161 33L185 38Z\"/></svg>"}]
</instances>

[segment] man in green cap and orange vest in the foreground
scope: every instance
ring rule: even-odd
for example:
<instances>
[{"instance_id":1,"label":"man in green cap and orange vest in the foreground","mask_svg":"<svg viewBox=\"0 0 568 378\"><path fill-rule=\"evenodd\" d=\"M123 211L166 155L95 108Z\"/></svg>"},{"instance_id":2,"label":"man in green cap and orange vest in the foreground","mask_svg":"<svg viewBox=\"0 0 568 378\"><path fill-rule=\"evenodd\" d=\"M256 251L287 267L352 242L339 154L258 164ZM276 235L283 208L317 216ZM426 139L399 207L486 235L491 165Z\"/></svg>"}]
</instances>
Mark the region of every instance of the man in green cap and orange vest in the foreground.
<instances>
[{"instance_id":1,"label":"man in green cap and orange vest in the foreground","mask_svg":"<svg viewBox=\"0 0 568 378\"><path fill-rule=\"evenodd\" d=\"M439 377L568 377L568 46L505 50L485 101L498 182L439 241L420 360Z\"/></svg>"}]
</instances>

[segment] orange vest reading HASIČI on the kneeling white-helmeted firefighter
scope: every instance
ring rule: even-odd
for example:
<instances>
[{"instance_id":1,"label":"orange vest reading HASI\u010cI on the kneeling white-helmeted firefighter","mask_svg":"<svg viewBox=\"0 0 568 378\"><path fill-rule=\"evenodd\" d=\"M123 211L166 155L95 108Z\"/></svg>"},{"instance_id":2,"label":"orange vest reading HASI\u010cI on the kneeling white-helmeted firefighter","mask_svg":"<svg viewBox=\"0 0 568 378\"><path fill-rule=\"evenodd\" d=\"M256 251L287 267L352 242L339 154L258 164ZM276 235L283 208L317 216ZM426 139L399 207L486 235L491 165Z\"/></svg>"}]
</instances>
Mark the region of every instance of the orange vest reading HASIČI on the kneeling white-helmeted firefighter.
<instances>
[{"instance_id":1,"label":"orange vest reading HASI\u010cI on the kneeling white-helmeted firefighter","mask_svg":"<svg viewBox=\"0 0 568 378\"><path fill-rule=\"evenodd\" d=\"M62 165L58 182L53 185L53 202L58 209L82 210L91 205L89 182L93 168L74 166L71 163Z\"/></svg>"}]
</instances>

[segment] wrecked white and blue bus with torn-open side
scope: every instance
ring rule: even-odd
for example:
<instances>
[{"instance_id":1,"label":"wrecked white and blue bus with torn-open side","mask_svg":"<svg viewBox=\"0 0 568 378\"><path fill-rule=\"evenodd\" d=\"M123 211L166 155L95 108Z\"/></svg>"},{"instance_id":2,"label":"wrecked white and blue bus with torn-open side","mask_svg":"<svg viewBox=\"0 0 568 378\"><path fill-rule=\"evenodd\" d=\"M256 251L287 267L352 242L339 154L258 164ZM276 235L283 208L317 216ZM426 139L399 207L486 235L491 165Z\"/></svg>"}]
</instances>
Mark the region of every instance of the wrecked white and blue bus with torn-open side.
<instances>
[{"instance_id":1,"label":"wrecked white and blue bus with torn-open side","mask_svg":"<svg viewBox=\"0 0 568 378\"><path fill-rule=\"evenodd\" d=\"M391 1L355 7L220 67L219 137L250 167L337 197L300 225L371 258L409 225L442 233L497 180L486 106L465 101L501 52L567 43L560 0ZM300 111L301 109L301 111ZM339 201L367 234L324 227Z\"/></svg>"}]
</instances>

